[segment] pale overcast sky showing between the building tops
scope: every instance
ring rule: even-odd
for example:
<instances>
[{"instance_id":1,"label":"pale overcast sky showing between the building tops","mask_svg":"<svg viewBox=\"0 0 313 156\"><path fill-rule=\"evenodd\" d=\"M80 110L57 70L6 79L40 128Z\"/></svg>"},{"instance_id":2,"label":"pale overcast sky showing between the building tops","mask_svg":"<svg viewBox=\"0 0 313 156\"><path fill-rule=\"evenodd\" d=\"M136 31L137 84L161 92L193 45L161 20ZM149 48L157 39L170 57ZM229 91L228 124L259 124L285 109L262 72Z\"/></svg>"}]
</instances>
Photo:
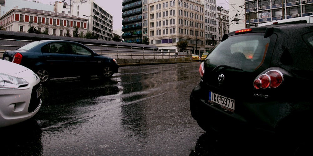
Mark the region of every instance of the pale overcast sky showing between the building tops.
<instances>
[{"instance_id":1,"label":"pale overcast sky showing between the building tops","mask_svg":"<svg viewBox=\"0 0 313 156\"><path fill-rule=\"evenodd\" d=\"M57 0L38 0L44 4L53 4ZM123 0L94 0L102 9L106 12L109 12L113 16L113 29L122 28L122 1ZM69 2L69 0L65 0ZM228 0L216 0L216 6L222 6L225 9L229 9Z\"/></svg>"}]
</instances>

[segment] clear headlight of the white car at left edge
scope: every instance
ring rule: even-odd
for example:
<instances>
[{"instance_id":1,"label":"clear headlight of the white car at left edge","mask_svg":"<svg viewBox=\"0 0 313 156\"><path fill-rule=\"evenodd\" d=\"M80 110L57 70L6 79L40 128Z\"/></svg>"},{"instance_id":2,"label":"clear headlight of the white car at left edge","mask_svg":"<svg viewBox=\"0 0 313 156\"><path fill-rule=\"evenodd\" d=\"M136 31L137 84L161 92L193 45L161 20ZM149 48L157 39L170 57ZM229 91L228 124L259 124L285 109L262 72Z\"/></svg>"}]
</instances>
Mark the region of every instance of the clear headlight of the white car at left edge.
<instances>
[{"instance_id":1,"label":"clear headlight of the white car at left edge","mask_svg":"<svg viewBox=\"0 0 313 156\"><path fill-rule=\"evenodd\" d=\"M23 78L0 73L0 88L18 88L27 85L28 82Z\"/></svg>"}]
</instances>

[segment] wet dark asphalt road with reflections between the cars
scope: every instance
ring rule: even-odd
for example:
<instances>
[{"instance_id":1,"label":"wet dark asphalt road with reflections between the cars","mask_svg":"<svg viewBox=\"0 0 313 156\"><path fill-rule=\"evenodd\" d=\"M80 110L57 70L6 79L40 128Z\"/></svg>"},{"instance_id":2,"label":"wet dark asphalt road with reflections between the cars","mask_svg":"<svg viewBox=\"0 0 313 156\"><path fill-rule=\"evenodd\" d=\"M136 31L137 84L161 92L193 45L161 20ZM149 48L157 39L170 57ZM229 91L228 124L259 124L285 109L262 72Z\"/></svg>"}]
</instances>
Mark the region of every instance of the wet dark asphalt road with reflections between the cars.
<instances>
[{"instance_id":1,"label":"wet dark asphalt road with reflections between the cars","mask_svg":"<svg viewBox=\"0 0 313 156\"><path fill-rule=\"evenodd\" d=\"M189 95L200 80L199 65L120 67L109 81L51 80L32 119L0 129L1 153L272 155L277 144L271 141L205 133L192 119Z\"/></svg>"}]
</instances>

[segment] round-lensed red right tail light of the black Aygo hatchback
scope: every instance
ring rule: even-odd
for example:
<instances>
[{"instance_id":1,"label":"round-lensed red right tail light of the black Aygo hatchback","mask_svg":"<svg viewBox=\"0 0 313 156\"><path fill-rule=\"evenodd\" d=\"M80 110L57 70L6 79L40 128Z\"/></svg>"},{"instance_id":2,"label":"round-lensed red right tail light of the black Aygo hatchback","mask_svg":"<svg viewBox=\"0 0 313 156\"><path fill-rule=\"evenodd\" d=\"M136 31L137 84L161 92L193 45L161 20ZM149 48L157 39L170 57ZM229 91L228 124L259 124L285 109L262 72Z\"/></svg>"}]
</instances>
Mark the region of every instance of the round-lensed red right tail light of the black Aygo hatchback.
<instances>
[{"instance_id":1,"label":"round-lensed red right tail light of the black Aygo hatchback","mask_svg":"<svg viewBox=\"0 0 313 156\"><path fill-rule=\"evenodd\" d=\"M284 76L282 72L270 70L257 77L253 82L253 86L255 89L276 88L283 82L283 79Z\"/></svg>"}]
</instances>

